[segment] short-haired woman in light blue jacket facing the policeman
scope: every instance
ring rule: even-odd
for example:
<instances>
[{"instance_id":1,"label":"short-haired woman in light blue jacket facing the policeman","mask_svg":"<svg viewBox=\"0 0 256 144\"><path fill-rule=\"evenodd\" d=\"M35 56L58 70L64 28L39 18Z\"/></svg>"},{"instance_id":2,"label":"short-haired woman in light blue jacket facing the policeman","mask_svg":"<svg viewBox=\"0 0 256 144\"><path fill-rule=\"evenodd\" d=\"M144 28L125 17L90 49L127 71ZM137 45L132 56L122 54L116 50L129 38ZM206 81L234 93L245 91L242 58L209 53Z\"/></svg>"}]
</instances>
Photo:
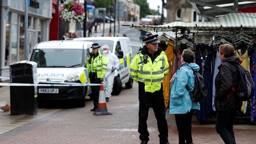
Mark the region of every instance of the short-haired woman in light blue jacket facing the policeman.
<instances>
[{"instance_id":1,"label":"short-haired woman in light blue jacket facing the policeman","mask_svg":"<svg viewBox=\"0 0 256 144\"><path fill-rule=\"evenodd\" d=\"M195 53L191 49L183 50L181 65L171 79L170 114L175 114L176 125L179 134L179 144L193 144L191 134L192 110L200 110L199 102L194 102L186 89L193 90L195 76L190 67L199 71L199 66L193 63ZM189 65L190 67L188 67Z\"/></svg>"}]
</instances>

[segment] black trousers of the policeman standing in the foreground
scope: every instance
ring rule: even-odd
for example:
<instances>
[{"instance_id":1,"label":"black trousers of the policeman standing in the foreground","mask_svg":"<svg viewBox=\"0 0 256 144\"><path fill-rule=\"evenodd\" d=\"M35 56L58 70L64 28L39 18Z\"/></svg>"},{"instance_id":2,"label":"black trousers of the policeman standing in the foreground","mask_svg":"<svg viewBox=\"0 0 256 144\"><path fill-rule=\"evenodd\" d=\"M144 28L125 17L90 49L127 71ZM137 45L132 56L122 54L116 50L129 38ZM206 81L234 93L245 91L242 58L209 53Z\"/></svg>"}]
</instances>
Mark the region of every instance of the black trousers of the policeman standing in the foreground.
<instances>
[{"instance_id":1,"label":"black trousers of the policeman standing in the foreground","mask_svg":"<svg viewBox=\"0 0 256 144\"><path fill-rule=\"evenodd\" d=\"M165 119L165 103L163 92L139 92L139 129L140 140L149 140L147 130L147 118L150 104L154 110L155 118L157 119L157 126L159 131L160 144L168 141L168 127Z\"/></svg>"}]
</instances>

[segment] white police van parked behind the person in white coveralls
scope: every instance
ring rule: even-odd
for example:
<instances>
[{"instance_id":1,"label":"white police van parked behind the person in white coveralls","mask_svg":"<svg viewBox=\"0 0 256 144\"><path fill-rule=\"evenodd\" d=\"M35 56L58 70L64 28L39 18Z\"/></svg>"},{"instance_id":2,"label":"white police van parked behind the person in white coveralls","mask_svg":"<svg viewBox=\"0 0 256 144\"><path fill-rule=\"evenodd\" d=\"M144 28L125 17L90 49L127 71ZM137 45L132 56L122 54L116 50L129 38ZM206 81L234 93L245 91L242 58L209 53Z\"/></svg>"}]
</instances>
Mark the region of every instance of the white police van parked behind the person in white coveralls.
<instances>
[{"instance_id":1,"label":"white police van parked behind the person in white coveralls","mask_svg":"<svg viewBox=\"0 0 256 144\"><path fill-rule=\"evenodd\" d=\"M74 38L73 41L90 41L98 43L100 46L107 44L109 50L120 59L120 68L115 73L112 95L120 94L122 85L132 88L133 79L129 74L130 63L132 61L131 42L128 37L86 37ZM102 49L101 49L102 52Z\"/></svg>"}]
</instances>

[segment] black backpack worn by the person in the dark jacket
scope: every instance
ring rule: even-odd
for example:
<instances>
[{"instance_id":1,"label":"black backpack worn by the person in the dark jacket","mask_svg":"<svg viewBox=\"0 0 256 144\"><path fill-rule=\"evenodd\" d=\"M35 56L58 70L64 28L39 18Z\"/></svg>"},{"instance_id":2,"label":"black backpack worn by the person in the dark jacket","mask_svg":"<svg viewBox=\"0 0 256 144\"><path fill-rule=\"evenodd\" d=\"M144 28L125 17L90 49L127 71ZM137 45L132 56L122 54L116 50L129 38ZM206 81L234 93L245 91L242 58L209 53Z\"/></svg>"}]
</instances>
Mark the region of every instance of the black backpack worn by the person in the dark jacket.
<instances>
[{"instance_id":1,"label":"black backpack worn by the person in the dark jacket","mask_svg":"<svg viewBox=\"0 0 256 144\"><path fill-rule=\"evenodd\" d=\"M249 101L254 93L254 84L251 74L240 65L242 61L240 61L237 65L238 69L238 86L237 88L233 88L232 90L235 92L237 98L240 101Z\"/></svg>"}]
</instances>

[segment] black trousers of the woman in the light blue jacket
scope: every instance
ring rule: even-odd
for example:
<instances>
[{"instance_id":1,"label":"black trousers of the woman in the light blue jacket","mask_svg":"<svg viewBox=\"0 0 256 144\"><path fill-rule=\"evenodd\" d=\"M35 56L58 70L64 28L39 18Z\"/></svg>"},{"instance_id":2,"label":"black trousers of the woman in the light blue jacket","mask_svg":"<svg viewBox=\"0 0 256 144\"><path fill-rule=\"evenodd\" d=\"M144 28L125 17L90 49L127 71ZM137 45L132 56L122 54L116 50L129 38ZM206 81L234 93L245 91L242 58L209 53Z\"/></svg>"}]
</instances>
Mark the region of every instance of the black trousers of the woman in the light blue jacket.
<instances>
[{"instance_id":1,"label":"black trousers of the woman in the light blue jacket","mask_svg":"<svg viewBox=\"0 0 256 144\"><path fill-rule=\"evenodd\" d=\"M191 144L192 110L186 114L175 114L175 121L179 133L179 144Z\"/></svg>"}]
</instances>

